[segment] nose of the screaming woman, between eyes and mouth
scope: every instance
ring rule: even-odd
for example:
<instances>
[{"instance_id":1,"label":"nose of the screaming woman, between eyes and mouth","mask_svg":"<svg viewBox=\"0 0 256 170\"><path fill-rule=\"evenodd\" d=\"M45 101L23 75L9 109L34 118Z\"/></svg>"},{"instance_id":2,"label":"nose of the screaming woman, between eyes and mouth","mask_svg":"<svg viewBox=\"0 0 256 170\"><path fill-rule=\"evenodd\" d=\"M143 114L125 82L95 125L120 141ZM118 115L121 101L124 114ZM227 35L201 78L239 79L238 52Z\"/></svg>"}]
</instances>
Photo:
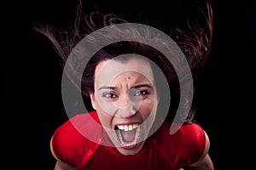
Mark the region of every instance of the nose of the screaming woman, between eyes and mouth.
<instances>
[{"instance_id":1,"label":"nose of the screaming woman, between eyes and mouth","mask_svg":"<svg viewBox=\"0 0 256 170\"><path fill-rule=\"evenodd\" d=\"M120 98L116 107L118 109L116 116L119 117L130 117L137 112L136 104L128 96Z\"/></svg>"}]
</instances>

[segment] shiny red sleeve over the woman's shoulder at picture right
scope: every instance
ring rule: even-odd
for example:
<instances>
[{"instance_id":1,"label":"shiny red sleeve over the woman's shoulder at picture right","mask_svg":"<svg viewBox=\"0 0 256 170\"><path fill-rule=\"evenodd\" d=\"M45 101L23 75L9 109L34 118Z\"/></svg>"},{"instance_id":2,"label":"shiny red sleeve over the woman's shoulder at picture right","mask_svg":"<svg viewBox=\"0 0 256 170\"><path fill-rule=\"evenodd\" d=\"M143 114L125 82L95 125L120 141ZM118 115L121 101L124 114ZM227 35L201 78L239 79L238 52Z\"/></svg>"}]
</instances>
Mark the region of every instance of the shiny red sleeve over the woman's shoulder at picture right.
<instances>
[{"instance_id":1,"label":"shiny red sleeve over the woman's shoulder at picture right","mask_svg":"<svg viewBox=\"0 0 256 170\"><path fill-rule=\"evenodd\" d=\"M188 167L198 161L206 145L204 130L199 124L185 123L179 130L170 134L171 123L164 123L157 136L160 154L169 162L170 167Z\"/></svg>"}]
</instances>

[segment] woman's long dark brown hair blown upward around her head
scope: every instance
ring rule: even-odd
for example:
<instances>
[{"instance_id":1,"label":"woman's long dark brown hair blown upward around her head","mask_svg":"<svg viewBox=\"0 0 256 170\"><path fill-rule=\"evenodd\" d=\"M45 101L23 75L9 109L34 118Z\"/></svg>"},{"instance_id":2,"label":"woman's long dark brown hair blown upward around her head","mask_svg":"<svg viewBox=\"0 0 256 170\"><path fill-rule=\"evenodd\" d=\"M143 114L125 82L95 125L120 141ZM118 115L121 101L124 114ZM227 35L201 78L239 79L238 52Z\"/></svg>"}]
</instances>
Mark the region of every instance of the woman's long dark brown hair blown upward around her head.
<instances>
[{"instance_id":1,"label":"woman's long dark brown hair blown upward around her head","mask_svg":"<svg viewBox=\"0 0 256 170\"><path fill-rule=\"evenodd\" d=\"M185 29L176 28L174 31L172 31L172 35L170 35L170 37L177 42L178 47L183 51L183 54L189 63L193 77L196 77L205 65L212 43L213 17L210 3L207 3L207 13L201 14L206 20L206 25L201 26L198 22L190 20L187 22L187 27ZM43 26L38 23L35 24L32 29L44 34L45 37L49 38L49 40L54 44L56 53L61 56L63 61L62 64L64 66L73 48L84 37L104 26L111 26L119 23L128 23L128 21L115 14L102 14L98 11L92 12L89 16L84 16L84 14L82 14L82 3L79 1L76 20L73 28L70 28L72 29L71 31L60 31L60 29L55 28L55 26ZM111 32L108 32L106 35L99 35L99 38L107 35L112 35L112 37L108 38L120 37L122 35L121 33L122 32L119 32L119 30L113 30L112 34ZM143 36L150 37L152 35L150 35L148 31L145 31ZM152 38L154 38L153 41L155 41L155 44L158 44L157 42L160 41L158 37ZM93 48L93 44L94 40L91 39L91 48ZM160 66L171 88L171 94L173 95L172 99L176 99L175 101L177 101L172 102L170 107L170 113L168 116L172 119L175 115L174 112L177 110L179 98L177 74L171 63L163 54L146 44L129 41L109 44L94 54L94 56L85 66L81 85L77 84L78 80L77 77L75 77L76 70L72 68L70 69L70 74L73 75L73 77L70 77L71 81L74 83L74 85L81 88L81 93L84 95L84 98L88 99L89 94L94 93L94 72L96 65L104 59L113 59L120 54L141 54L154 61L156 65ZM79 61L76 64L79 66ZM192 122L194 120L194 107L192 106L189 108L189 110L189 116L186 117L186 122Z\"/></svg>"}]
</instances>

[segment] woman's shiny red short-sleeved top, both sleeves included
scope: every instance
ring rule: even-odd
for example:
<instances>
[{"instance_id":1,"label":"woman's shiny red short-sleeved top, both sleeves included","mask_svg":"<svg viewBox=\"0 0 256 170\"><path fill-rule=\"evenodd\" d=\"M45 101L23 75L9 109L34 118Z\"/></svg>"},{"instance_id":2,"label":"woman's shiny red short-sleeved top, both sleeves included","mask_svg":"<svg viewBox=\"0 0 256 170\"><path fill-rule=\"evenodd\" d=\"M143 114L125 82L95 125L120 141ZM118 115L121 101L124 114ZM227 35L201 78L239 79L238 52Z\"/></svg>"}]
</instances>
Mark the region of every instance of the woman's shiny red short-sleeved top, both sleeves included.
<instances>
[{"instance_id":1,"label":"woman's shiny red short-sleeved top, both sleeves included","mask_svg":"<svg viewBox=\"0 0 256 170\"><path fill-rule=\"evenodd\" d=\"M96 121L97 123L95 123ZM96 111L73 116L59 127L52 140L52 148L61 161L78 169L178 170L198 161L206 144L200 125L183 124L177 133L170 134L171 122L164 122L133 156L124 156L114 147L102 145L107 134L102 130ZM96 139L96 144L84 137Z\"/></svg>"}]
</instances>

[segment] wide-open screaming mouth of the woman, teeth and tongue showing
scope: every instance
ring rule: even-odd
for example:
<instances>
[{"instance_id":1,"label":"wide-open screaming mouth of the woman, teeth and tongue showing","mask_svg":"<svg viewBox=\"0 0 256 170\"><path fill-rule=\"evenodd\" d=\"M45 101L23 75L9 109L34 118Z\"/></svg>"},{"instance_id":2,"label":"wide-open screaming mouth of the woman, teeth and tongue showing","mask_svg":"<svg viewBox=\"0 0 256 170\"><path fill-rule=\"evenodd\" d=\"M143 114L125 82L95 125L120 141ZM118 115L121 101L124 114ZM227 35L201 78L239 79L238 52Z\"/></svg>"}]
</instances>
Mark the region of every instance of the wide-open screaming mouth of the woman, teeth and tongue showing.
<instances>
[{"instance_id":1,"label":"wide-open screaming mouth of the woman, teeth and tongue showing","mask_svg":"<svg viewBox=\"0 0 256 170\"><path fill-rule=\"evenodd\" d=\"M133 149L139 144L139 139L142 132L140 124L119 124L114 127L114 130L118 136L122 148Z\"/></svg>"}]
</instances>

